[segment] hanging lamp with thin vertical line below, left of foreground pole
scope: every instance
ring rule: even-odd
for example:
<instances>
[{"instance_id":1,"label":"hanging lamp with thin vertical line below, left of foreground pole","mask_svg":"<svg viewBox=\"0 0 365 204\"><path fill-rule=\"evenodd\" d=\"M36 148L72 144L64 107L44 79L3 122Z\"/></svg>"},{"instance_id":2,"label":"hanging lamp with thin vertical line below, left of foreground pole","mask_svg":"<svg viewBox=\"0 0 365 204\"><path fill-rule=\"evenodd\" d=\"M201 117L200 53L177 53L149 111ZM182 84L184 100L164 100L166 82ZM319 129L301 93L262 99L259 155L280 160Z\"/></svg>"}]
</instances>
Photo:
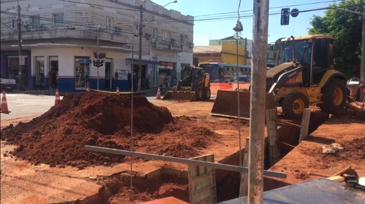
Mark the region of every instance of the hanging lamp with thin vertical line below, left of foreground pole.
<instances>
[{"instance_id":1,"label":"hanging lamp with thin vertical line below, left of foreground pole","mask_svg":"<svg viewBox=\"0 0 365 204\"><path fill-rule=\"evenodd\" d=\"M237 57L237 70L236 70L236 76L237 76L237 112L238 112L238 144L239 144L239 167L242 167L242 153L241 153L241 122L240 122L240 110L239 110L239 65L238 65L238 39L241 38L242 33L241 31L243 30L243 26L241 24L241 22L238 20L237 23L235 24L235 26L233 27L233 30L235 30L235 32L233 33L233 37L236 39L236 57ZM245 59L246 60L246 59ZM240 180L242 183L242 173L240 172Z\"/></svg>"}]
</instances>

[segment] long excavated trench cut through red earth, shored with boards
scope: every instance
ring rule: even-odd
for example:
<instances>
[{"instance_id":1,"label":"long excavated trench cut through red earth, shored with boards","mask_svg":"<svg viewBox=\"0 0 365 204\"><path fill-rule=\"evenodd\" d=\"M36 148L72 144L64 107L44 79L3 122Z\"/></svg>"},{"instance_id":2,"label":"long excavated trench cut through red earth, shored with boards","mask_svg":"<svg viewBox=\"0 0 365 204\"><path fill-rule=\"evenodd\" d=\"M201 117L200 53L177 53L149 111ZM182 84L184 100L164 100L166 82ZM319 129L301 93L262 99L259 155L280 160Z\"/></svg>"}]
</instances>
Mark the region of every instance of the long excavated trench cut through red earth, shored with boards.
<instances>
[{"instance_id":1,"label":"long excavated trench cut through red earth, shored with boards","mask_svg":"<svg viewBox=\"0 0 365 204\"><path fill-rule=\"evenodd\" d=\"M315 131L319 126L329 119L329 115L321 111L311 113L309 134ZM301 121L290 121L278 123L281 128L278 129L280 143L280 156L283 158L287 153L293 150L292 146L297 146L299 141ZM242 150L244 153L244 149ZM242 155L243 157L243 155ZM218 163L239 165L238 151ZM264 169L270 168L268 159L268 147L265 141ZM216 193L217 202L223 202L238 198L240 175L238 172L225 171L216 169ZM108 178L101 178L104 183L100 189L98 197L85 204L117 204L130 203L130 174L116 174ZM189 185L187 172L178 171L168 168L161 168L150 175L140 176L136 173L132 177L133 182L133 200L137 202L146 202L166 197L175 197L186 203L189 203ZM287 183L272 178L264 178L264 190L271 190L286 186ZM135 203L135 202L133 202Z\"/></svg>"}]
</instances>

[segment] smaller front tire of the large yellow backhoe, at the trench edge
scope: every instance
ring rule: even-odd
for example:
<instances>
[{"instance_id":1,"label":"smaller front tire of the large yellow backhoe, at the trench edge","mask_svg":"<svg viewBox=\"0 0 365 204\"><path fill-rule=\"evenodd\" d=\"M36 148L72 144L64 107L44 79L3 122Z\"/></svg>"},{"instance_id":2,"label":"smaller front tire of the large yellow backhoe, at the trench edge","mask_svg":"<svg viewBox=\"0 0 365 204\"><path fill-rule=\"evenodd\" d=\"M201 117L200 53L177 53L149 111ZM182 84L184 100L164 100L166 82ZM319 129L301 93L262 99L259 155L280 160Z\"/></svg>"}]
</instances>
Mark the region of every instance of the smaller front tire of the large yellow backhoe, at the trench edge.
<instances>
[{"instance_id":1,"label":"smaller front tire of the large yellow backhoe, at the trench edge","mask_svg":"<svg viewBox=\"0 0 365 204\"><path fill-rule=\"evenodd\" d=\"M282 107L288 119L301 119L304 109L309 107L309 100L301 92L292 92L284 98Z\"/></svg>"}]
</instances>

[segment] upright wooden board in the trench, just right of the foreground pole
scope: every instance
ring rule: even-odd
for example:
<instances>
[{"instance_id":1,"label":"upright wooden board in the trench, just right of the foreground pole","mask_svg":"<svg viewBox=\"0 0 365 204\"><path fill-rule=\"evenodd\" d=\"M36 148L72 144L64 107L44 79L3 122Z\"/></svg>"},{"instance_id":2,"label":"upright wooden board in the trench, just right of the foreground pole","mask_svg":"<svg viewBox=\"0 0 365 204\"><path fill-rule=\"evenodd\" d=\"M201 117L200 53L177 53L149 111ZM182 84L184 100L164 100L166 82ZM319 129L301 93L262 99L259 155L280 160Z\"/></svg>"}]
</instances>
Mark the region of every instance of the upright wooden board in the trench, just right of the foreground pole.
<instances>
[{"instance_id":1,"label":"upright wooden board in the trench, just right of the foreground pole","mask_svg":"<svg viewBox=\"0 0 365 204\"><path fill-rule=\"evenodd\" d=\"M276 162L280 160L280 150L278 145L278 125L276 122L277 117L277 109L266 110L266 129L270 166L273 166Z\"/></svg>"}]
</instances>

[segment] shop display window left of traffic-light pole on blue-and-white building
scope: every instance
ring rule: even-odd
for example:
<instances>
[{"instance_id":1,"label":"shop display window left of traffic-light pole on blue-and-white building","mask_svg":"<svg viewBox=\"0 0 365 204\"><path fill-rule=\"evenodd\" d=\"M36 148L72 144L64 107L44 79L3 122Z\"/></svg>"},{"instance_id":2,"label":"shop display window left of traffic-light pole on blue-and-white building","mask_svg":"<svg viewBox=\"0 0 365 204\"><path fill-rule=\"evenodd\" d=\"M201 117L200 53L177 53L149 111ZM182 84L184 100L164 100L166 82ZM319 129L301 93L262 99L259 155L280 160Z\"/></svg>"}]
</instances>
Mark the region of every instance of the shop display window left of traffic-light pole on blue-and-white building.
<instances>
[{"instance_id":1,"label":"shop display window left of traffic-light pole on blue-and-white building","mask_svg":"<svg viewBox=\"0 0 365 204\"><path fill-rule=\"evenodd\" d=\"M75 88L85 89L89 82L90 64L80 63L79 59L90 59L90 57L76 56L75 57Z\"/></svg>"}]
</instances>

